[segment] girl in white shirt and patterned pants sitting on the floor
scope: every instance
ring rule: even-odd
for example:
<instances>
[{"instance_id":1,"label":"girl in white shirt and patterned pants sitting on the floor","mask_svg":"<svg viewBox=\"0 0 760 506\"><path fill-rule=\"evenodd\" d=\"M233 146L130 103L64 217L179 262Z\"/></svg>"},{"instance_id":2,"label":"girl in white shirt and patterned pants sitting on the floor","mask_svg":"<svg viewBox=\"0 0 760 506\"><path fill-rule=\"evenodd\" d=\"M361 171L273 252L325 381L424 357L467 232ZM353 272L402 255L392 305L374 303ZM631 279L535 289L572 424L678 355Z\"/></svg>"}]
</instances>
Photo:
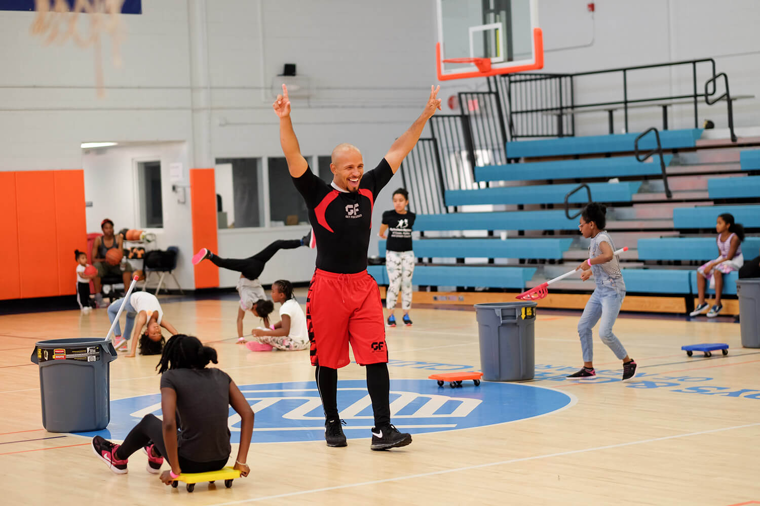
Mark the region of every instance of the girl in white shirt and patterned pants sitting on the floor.
<instances>
[{"instance_id":1,"label":"girl in white shirt and patterned pants sitting on the floor","mask_svg":"<svg viewBox=\"0 0 760 506\"><path fill-rule=\"evenodd\" d=\"M270 328L254 328L253 340L269 344L277 350L306 350L309 347L309 333L306 332L306 316L293 297L293 283L278 279L272 283L272 300L280 306L280 321Z\"/></svg>"}]
</instances>

